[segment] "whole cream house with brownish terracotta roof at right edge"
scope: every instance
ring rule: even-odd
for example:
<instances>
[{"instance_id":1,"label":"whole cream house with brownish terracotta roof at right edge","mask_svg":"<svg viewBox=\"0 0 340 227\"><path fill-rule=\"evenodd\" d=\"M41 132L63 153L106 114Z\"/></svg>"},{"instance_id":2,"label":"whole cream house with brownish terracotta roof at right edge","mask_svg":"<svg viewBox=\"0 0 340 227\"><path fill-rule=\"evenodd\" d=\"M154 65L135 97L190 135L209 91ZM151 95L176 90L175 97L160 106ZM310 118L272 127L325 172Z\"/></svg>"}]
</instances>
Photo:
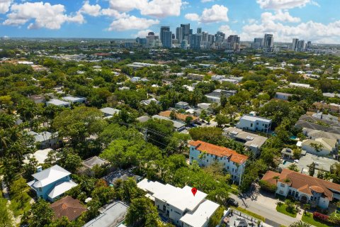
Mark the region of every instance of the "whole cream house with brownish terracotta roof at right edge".
<instances>
[{"instance_id":1,"label":"whole cream house with brownish terracotta roof at right edge","mask_svg":"<svg viewBox=\"0 0 340 227\"><path fill-rule=\"evenodd\" d=\"M277 179L278 178L278 179ZM282 196L293 196L313 207L326 209L329 201L340 199L340 185L324 179L304 175L288 169L281 173L268 171L262 179L269 184L276 184L276 193Z\"/></svg>"}]
</instances>

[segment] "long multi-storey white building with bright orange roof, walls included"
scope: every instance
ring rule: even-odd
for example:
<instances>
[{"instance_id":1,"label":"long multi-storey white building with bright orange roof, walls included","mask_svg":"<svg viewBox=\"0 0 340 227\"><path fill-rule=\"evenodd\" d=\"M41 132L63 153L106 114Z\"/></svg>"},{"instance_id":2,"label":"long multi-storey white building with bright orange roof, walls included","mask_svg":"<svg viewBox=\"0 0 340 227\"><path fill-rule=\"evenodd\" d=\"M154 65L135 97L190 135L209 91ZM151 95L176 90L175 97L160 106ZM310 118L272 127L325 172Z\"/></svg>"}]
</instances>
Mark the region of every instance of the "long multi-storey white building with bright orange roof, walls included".
<instances>
[{"instance_id":1,"label":"long multi-storey white building with bright orange roof, walls included","mask_svg":"<svg viewBox=\"0 0 340 227\"><path fill-rule=\"evenodd\" d=\"M192 140L189 145L191 145L190 164L197 161L198 165L207 166L214 162L220 162L225 167L225 170L232 175L232 180L241 183L246 160L248 160L246 155L200 140Z\"/></svg>"}]
</instances>

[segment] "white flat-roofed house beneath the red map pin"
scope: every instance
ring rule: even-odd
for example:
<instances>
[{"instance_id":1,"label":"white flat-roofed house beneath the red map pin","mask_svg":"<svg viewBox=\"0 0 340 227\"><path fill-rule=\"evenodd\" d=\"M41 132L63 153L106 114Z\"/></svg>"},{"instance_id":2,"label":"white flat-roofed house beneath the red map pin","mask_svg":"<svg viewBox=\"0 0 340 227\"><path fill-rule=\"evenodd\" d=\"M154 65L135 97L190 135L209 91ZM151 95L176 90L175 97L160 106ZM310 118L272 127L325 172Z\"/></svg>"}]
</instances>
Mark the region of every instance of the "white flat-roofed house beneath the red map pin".
<instances>
[{"instance_id":1,"label":"white flat-roofed house beneath the red map pin","mask_svg":"<svg viewBox=\"0 0 340 227\"><path fill-rule=\"evenodd\" d=\"M205 199L207 194L204 192L197 191L194 196L188 186L179 188L149 179L143 179L137 186L147 192L146 196L154 201L157 209L176 226L207 227L210 217L220 206Z\"/></svg>"}]
</instances>

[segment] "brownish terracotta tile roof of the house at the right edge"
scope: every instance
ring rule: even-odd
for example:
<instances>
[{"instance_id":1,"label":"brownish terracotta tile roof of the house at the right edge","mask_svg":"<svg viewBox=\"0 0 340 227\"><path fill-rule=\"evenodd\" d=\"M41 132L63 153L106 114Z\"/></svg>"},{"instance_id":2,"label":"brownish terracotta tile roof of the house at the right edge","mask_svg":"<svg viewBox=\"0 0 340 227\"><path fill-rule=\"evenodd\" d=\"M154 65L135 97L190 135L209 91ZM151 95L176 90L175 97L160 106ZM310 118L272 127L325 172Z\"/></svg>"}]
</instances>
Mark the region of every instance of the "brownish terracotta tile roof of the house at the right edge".
<instances>
[{"instance_id":1,"label":"brownish terracotta tile roof of the house at the right edge","mask_svg":"<svg viewBox=\"0 0 340 227\"><path fill-rule=\"evenodd\" d=\"M270 179L270 177L274 176L275 174L280 177L280 179L278 179L278 182L287 184L287 182L285 182L285 179L289 179L290 187L297 189L299 192L310 195L312 195L312 191L322 193L324 194L324 196L328 197L329 201L333 199L333 192L331 192L330 189L340 192L340 184L328 182L324 179L311 177L309 175L304 175L300 172L295 172L288 169L283 169L280 174L268 171L262 179L266 180L266 182L270 184L276 184L275 181Z\"/></svg>"}]
</instances>

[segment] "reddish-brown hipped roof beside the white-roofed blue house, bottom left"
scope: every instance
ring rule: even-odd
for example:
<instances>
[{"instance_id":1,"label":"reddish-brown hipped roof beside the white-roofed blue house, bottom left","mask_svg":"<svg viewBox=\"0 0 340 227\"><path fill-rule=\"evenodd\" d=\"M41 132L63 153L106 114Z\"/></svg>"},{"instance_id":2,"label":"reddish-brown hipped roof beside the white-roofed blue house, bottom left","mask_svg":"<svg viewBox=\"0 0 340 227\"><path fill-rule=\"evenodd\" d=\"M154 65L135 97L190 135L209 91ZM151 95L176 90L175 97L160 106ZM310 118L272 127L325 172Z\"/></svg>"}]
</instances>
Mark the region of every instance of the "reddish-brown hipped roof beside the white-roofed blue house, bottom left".
<instances>
[{"instance_id":1,"label":"reddish-brown hipped roof beside the white-roofed blue house, bottom left","mask_svg":"<svg viewBox=\"0 0 340 227\"><path fill-rule=\"evenodd\" d=\"M50 208L55 212L55 219L66 216L69 221L75 220L86 211L86 207L78 199L73 199L71 196L66 196L54 202L50 205Z\"/></svg>"}]
</instances>

